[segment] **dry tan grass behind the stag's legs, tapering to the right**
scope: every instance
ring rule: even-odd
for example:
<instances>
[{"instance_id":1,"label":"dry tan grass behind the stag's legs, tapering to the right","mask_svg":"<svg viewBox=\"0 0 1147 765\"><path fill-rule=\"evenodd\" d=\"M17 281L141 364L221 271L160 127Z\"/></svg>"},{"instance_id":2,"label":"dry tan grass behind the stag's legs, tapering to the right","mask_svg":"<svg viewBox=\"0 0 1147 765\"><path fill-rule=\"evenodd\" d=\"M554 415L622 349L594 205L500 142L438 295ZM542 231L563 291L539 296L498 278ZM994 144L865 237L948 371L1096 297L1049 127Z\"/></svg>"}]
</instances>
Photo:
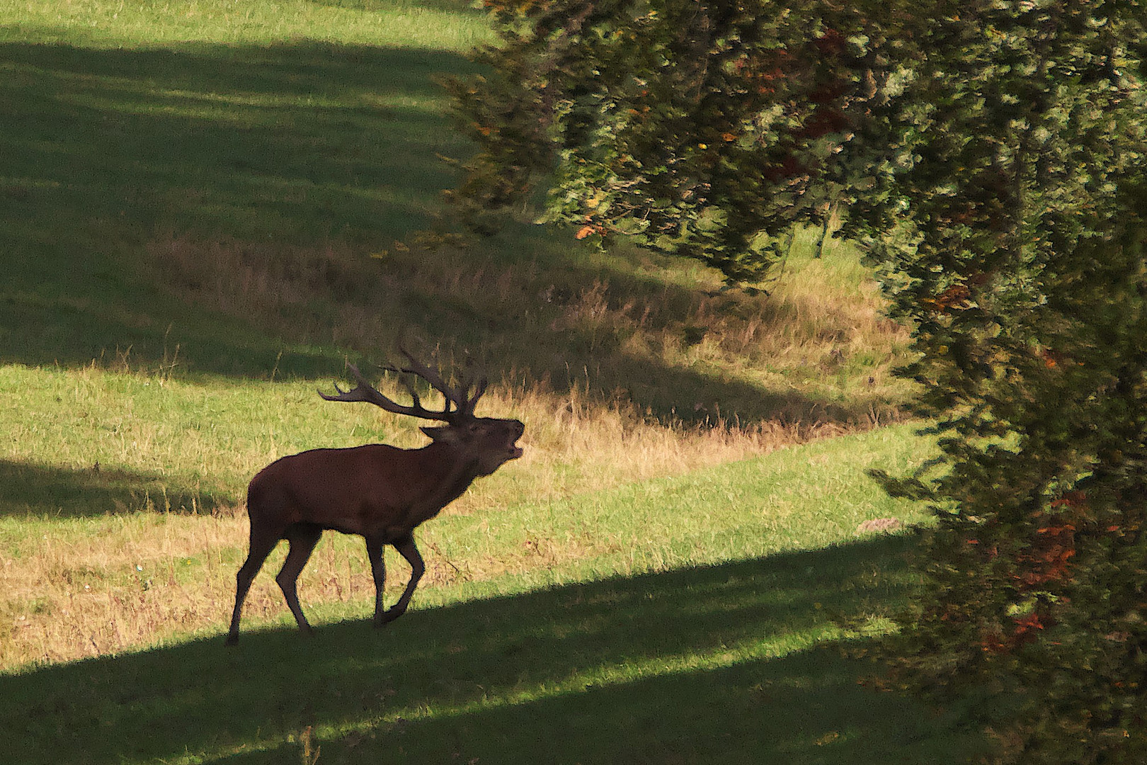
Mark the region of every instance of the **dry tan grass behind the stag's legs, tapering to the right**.
<instances>
[{"instance_id":1,"label":"dry tan grass behind the stag's legs, tapering to the right","mask_svg":"<svg viewBox=\"0 0 1147 765\"><path fill-rule=\"evenodd\" d=\"M237 514L136 514L91 521L63 533L53 529L18 557L0 553L0 671L163 645L173 637L221 635L243 555L237 542L245 536L247 521ZM612 549L591 540L557 545L540 539L505 554L450 560L432 534L422 547L422 592ZM284 548L272 555L252 586L243 610L248 629L290 622L273 578ZM391 602L409 575L398 560L388 556ZM373 587L361 541L338 534L323 538L299 579L304 607L312 614L320 603L345 603L366 618Z\"/></svg>"}]
</instances>

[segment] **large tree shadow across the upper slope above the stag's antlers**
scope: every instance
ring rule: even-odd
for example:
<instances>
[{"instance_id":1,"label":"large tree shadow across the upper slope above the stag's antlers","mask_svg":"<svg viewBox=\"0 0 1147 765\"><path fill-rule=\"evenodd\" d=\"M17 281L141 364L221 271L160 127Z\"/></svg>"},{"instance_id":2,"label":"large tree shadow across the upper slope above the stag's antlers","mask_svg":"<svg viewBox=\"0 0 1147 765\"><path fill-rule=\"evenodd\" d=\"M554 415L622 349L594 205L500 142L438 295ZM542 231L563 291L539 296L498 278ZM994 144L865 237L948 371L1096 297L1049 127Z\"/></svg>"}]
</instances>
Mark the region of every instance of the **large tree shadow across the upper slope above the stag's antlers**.
<instances>
[{"instance_id":1,"label":"large tree shadow across the upper slope above the stag's antlers","mask_svg":"<svg viewBox=\"0 0 1147 765\"><path fill-rule=\"evenodd\" d=\"M377 359L399 328L416 325L432 342L489 350L491 369L559 391L587 387L663 421L865 423L884 406L863 395L816 399L785 383L765 390L630 352L632 331L617 325L640 317L623 318L619 306L651 306L651 331L668 328L688 345L699 329L679 325L700 294L656 267L638 275L569 258L538 227L487 243L498 250L490 263L420 250L405 263L368 257L443 210L439 192L455 171L439 155L469 148L450 130L435 77L473 71L461 55L317 40L9 41L0 68L0 362L78 366L130 350L136 366L155 368L178 348L195 373L329 376L341 374L344 351ZM544 268L540 282L521 275L537 273L539 257L568 267ZM452 290L448 278L426 278L439 265L467 278L517 266L517 290L498 295L497 278ZM224 292L244 287L220 297L206 281ZM251 281L265 286L265 305L247 291ZM610 287L606 320L593 318L600 306L562 304L599 281ZM571 319L578 311L585 317Z\"/></svg>"}]
</instances>

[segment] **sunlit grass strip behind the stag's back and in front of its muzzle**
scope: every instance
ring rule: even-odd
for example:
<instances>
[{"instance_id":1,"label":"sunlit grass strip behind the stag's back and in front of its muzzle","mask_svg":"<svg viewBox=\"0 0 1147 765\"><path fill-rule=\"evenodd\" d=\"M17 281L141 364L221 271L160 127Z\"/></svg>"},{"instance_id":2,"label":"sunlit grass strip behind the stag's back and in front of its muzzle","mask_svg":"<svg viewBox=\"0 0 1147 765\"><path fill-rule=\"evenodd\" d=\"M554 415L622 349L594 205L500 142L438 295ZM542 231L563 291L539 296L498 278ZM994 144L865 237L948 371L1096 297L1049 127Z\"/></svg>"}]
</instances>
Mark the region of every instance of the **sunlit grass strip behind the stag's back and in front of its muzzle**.
<instances>
[{"instance_id":1,"label":"sunlit grass strip behind the stag's back and in front of its muzzle","mask_svg":"<svg viewBox=\"0 0 1147 765\"><path fill-rule=\"evenodd\" d=\"M13 513L14 505L26 501L30 509L38 508L33 514L45 516L145 509L143 502L120 507L108 501L127 499L126 492L115 489L125 477L150 491L153 500L165 486L172 497L202 494L201 510L216 505L233 508L243 501L250 477L283 454L372 440L398 446L426 443L418 423L380 415L370 407L322 401L315 393L320 384L329 387L333 381L196 382L169 376L162 368L141 375L94 366L77 370L0 366L0 388L11 391L13 405L0 413L5 434L0 460L54 474L61 485L93 489L84 499L53 497L25 484L26 493L0 498L0 507ZM526 423L526 455L513 474L477 484L455 506L463 513L490 514L523 498L547 500L616 487L760 454L803 437L799 429L664 428L635 422L629 413L598 406L576 390L556 393L500 385L486 395L483 406ZM110 494L96 491L101 485ZM193 508L175 504L170 509Z\"/></svg>"}]
</instances>

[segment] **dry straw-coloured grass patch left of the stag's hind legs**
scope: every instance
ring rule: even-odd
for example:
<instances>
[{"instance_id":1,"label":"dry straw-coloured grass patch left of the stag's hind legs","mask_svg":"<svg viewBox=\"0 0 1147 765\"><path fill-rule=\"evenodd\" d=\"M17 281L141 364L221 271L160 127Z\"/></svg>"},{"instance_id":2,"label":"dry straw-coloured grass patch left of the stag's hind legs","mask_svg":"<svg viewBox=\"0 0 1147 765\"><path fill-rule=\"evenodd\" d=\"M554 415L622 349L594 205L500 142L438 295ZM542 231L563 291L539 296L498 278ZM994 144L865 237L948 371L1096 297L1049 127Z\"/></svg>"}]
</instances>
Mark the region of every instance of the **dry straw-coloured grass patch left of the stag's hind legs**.
<instances>
[{"instance_id":1,"label":"dry straw-coloured grass patch left of the stag's hind legs","mask_svg":"<svg viewBox=\"0 0 1147 765\"><path fill-rule=\"evenodd\" d=\"M46 528L18 556L0 555L3 668L115 654L218 620L220 551L240 523L110 516Z\"/></svg>"}]
</instances>

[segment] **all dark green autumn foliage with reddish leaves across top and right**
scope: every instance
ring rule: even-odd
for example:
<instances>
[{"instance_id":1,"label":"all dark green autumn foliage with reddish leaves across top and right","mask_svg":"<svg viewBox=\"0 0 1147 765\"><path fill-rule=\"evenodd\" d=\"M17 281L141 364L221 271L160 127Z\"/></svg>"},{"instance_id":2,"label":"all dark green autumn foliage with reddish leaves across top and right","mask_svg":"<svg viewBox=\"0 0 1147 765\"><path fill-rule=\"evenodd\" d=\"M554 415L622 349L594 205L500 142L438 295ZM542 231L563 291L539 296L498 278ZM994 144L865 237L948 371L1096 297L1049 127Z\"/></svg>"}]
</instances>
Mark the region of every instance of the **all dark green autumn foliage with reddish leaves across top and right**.
<instances>
[{"instance_id":1,"label":"all dark green autumn foliage with reddish leaves across top and right","mask_svg":"<svg viewBox=\"0 0 1147 765\"><path fill-rule=\"evenodd\" d=\"M460 100L482 147L462 193L513 156L513 188L469 198L552 172L578 236L729 281L844 203L941 436L943 469L888 481L938 517L905 677L1009 700L981 708L1007 759L1141 759L1142 6L492 5L505 44Z\"/></svg>"}]
</instances>

